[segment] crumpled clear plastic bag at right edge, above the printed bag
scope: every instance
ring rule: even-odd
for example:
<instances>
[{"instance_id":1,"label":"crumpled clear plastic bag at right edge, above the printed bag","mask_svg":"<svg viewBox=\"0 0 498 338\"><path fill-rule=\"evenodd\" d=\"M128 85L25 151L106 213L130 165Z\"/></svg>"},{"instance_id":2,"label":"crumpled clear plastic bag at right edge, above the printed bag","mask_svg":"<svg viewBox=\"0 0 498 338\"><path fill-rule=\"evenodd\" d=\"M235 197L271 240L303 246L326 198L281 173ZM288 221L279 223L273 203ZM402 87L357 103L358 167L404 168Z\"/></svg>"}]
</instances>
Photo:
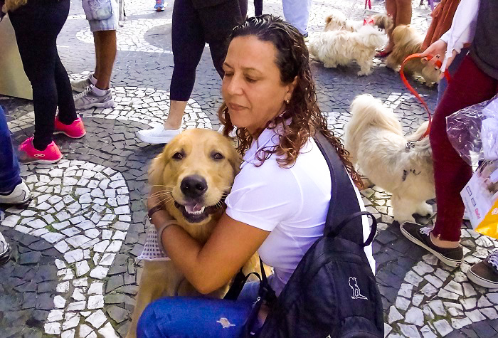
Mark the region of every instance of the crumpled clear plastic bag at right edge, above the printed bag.
<instances>
[{"instance_id":1,"label":"crumpled clear plastic bag at right edge, above the printed bag","mask_svg":"<svg viewBox=\"0 0 498 338\"><path fill-rule=\"evenodd\" d=\"M498 95L446 117L446 132L468 164L498 159Z\"/></svg>"}]
</instances>

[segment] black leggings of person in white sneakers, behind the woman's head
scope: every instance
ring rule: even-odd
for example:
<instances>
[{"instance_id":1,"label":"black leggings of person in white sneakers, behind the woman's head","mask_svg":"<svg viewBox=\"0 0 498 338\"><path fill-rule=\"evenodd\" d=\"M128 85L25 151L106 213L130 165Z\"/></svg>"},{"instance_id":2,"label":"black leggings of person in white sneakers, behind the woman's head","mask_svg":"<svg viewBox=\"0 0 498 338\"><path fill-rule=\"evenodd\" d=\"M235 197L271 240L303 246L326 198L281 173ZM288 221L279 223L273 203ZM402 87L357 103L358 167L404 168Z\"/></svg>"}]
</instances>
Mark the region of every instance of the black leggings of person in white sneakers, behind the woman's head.
<instances>
[{"instance_id":1,"label":"black leggings of person in white sneakers, behind the woman's head","mask_svg":"<svg viewBox=\"0 0 498 338\"><path fill-rule=\"evenodd\" d=\"M206 43L209 43L214 68L223 78L227 38L233 27L245 19L246 12L247 0L228 0L202 9L195 9L191 0L174 1L171 100L189 100L196 82L196 68Z\"/></svg>"}]
</instances>

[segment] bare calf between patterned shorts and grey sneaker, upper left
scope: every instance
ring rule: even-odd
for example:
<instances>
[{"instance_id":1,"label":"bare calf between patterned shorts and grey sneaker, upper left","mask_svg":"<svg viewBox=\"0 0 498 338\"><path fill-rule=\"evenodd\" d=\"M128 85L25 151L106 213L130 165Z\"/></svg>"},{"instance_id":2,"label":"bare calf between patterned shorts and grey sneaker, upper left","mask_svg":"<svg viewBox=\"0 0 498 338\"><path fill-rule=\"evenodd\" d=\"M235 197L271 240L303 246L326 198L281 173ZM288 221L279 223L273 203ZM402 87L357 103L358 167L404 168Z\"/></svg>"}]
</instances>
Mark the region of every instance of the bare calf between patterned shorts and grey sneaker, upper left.
<instances>
[{"instance_id":1,"label":"bare calf between patterned shorts and grey sneaker, upper left","mask_svg":"<svg viewBox=\"0 0 498 338\"><path fill-rule=\"evenodd\" d=\"M112 66L116 60L116 31L96 31L93 33L95 42L95 86L102 90L110 87Z\"/></svg>"}]
</instances>

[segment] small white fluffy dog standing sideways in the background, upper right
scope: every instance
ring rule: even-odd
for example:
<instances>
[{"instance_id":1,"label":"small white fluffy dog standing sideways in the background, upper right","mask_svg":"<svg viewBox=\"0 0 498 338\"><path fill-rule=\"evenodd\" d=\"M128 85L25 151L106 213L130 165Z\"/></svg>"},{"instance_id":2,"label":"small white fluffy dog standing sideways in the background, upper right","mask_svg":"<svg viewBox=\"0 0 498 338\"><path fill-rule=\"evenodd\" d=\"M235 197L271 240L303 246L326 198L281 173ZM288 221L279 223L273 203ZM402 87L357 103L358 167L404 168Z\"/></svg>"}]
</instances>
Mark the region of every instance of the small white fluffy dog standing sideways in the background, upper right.
<instances>
[{"instance_id":1,"label":"small white fluffy dog standing sideways in the background, upper right","mask_svg":"<svg viewBox=\"0 0 498 338\"><path fill-rule=\"evenodd\" d=\"M326 31L319 33L309 43L309 51L327 68L349 65L356 61L360 66L358 75L372 73L376 48L383 46L386 36L373 26L362 26L359 31Z\"/></svg>"}]
</instances>

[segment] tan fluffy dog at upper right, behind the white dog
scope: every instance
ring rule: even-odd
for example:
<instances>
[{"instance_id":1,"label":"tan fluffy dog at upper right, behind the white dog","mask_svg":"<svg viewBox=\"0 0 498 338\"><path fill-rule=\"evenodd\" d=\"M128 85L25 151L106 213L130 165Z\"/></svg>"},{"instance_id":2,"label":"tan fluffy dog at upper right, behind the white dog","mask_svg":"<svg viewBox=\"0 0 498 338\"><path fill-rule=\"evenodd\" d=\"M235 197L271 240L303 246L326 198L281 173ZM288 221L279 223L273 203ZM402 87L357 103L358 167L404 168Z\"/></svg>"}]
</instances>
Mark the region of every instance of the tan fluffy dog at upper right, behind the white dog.
<instances>
[{"instance_id":1,"label":"tan fluffy dog at upper right, behind the white dog","mask_svg":"<svg viewBox=\"0 0 498 338\"><path fill-rule=\"evenodd\" d=\"M399 66L407 56L420 53L424 36L410 25L399 25L393 30L394 48L391 54L386 58L386 66L393 70L398 70ZM421 75L428 87L439 82L440 70L435 69L428 64L426 60L415 58L406 63L403 68L405 75Z\"/></svg>"}]
</instances>

